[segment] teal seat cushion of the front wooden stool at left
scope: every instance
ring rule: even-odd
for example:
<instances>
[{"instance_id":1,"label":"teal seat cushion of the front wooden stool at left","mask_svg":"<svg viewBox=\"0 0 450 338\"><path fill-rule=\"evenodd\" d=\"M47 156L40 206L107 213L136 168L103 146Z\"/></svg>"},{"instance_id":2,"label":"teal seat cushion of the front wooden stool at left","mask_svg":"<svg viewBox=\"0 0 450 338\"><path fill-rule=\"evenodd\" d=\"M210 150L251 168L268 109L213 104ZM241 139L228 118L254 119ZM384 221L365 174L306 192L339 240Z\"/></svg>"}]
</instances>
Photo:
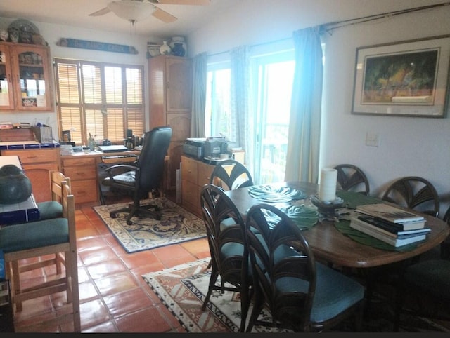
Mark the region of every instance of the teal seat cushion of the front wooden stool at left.
<instances>
[{"instance_id":1,"label":"teal seat cushion of the front wooden stool at left","mask_svg":"<svg viewBox=\"0 0 450 338\"><path fill-rule=\"evenodd\" d=\"M0 248L5 253L41 248L47 245L67 243L68 241L69 225L67 218L20 223L0 229Z\"/></svg>"}]
</instances>

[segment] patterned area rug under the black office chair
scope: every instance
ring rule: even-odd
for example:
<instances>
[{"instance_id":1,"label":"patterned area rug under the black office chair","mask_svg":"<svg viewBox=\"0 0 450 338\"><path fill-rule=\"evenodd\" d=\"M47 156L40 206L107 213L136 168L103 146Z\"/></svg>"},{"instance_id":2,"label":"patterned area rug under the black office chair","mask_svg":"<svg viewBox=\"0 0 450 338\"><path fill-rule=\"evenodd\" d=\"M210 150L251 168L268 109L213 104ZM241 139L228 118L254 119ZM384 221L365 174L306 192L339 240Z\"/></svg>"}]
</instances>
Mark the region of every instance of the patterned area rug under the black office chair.
<instances>
[{"instance_id":1,"label":"patterned area rug under the black office chair","mask_svg":"<svg viewBox=\"0 0 450 338\"><path fill-rule=\"evenodd\" d=\"M110 211L127 207L129 203L93 207L127 252L137 252L164 245L191 241L206 236L203 219L191 214L165 197L141 201L142 205L155 204L162 211L161 220L146 215L133 217L128 225L127 214L110 217Z\"/></svg>"}]
</instances>

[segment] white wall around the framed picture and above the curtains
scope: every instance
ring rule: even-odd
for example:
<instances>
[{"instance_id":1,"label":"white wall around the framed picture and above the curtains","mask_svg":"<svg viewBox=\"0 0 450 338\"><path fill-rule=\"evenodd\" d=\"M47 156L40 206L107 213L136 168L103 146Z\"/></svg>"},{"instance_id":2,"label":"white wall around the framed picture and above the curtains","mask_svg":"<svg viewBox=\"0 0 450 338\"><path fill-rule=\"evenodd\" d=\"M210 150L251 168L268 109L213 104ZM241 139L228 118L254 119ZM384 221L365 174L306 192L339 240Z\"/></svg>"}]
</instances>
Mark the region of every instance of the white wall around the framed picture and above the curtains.
<instances>
[{"instance_id":1,"label":"white wall around the framed picture and above the curtains","mask_svg":"<svg viewBox=\"0 0 450 338\"><path fill-rule=\"evenodd\" d=\"M317 6L329 5L326 13L316 11L314 5L302 7L304 1L300 0L270 2L248 15L250 8L256 8L259 2L243 1L243 8L233 8L233 13L222 13L220 19L214 18L201 32L188 36L191 55L205 51L220 53L243 44L285 39L304 27L359 18L365 15L365 10L386 13L443 1L317 0ZM342 12L345 4L354 5L351 15ZM307 18L300 21L305 11L309 11ZM373 196L379 196L387 184L398 177L425 177L442 198L441 217L450 202L450 114L444 119L427 119L361 116L351 114L351 110L357 47L450 34L449 17L450 6L445 6L343 27L323 36L326 53L321 167L339 163L358 165L368 176ZM379 147L366 146L366 132L380 134Z\"/></svg>"}]
</instances>

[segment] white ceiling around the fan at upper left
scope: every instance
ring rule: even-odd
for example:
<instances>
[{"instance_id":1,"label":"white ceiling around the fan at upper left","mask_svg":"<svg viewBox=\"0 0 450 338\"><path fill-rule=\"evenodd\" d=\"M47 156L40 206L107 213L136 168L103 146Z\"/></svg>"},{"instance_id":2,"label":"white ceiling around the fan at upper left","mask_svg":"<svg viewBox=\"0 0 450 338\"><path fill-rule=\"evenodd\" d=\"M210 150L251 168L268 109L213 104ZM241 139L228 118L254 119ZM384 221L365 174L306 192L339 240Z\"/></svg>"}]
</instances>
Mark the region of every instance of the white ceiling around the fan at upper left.
<instances>
[{"instance_id":1,"label":"white ceiling around the fan at upper left","mask_svg":"<svg viewBox=\"0 0 450 338\"><path fill-rule=\"evenodd\" d=\"M90 13L105 8L110 0L0 0L0 17L125 34L133 32L142 36L174 36L193 32L241 1L243 0L211 0L207 6L157 5L178 20L165 23L150 15L137 22L134 27L112 12L102 16L89 16Z\"/></svg>"}]
</instances>

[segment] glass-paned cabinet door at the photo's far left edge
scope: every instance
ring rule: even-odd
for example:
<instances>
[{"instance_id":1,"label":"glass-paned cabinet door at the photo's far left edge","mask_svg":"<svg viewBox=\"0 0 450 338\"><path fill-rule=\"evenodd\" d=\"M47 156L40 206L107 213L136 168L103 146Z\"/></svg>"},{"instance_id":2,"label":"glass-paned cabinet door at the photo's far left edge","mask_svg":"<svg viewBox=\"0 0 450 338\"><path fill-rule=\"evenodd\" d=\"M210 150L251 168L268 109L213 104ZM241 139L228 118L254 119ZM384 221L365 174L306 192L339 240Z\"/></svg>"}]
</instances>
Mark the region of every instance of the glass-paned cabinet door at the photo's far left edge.
<instances>
[{"instance_id":1,"label":"glass-paned cabinet door at the photo's far left edge","mask_svg":"<svg viewBox=\"0 0 450 338\"><path fill-rule=\"evenodd\" d=\"M0 45L0 109L14 108L13 74L9 47Z\"/></svg>"}]
</instances>

